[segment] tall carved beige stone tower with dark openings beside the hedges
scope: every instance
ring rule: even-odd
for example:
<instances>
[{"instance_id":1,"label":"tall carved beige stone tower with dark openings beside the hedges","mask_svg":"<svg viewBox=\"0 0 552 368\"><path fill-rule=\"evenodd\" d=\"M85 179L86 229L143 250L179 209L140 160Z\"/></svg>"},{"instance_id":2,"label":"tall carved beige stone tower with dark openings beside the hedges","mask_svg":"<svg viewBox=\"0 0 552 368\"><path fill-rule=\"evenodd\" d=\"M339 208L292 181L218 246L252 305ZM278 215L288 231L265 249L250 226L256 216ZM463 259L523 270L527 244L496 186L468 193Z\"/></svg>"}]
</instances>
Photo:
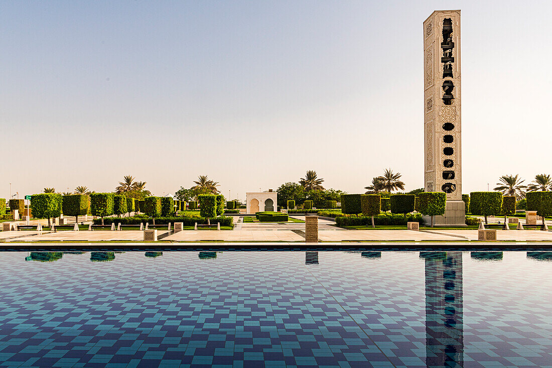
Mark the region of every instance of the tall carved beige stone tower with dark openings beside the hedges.
<instances>
[{"instance_id":1,"label":"tall carved beige stone tower with dark openings beside the hedges","mask_svg":"<svg viewBox=\"0 0 552 368\"><path fill-rule=\"evenodd\" d=\"M423 22L424 182L447 193L436 225L464 226L461 160L460 10L436 10Z\"/></svg>"}]
</instances>

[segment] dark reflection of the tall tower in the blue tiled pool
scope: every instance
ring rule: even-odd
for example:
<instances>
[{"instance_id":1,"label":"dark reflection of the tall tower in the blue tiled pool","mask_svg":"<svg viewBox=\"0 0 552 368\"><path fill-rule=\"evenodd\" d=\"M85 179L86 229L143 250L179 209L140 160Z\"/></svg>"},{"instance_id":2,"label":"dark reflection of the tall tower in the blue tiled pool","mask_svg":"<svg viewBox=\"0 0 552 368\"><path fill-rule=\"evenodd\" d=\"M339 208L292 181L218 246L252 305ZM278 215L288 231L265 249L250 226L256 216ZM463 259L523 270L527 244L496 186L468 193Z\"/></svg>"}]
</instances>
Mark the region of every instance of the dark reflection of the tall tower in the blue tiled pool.
<instances>
[{"instance_id":1,"label":"dark reflection of the tall tower in the blue tiled pool","mask_svg":"<svg viewBox=\"0 0 552 368\"><path fill-rule=\"evenodd\" d=\"M464 364L462 253L420 252L426 261L426 365Z\"/></svg>"}]
</instances>

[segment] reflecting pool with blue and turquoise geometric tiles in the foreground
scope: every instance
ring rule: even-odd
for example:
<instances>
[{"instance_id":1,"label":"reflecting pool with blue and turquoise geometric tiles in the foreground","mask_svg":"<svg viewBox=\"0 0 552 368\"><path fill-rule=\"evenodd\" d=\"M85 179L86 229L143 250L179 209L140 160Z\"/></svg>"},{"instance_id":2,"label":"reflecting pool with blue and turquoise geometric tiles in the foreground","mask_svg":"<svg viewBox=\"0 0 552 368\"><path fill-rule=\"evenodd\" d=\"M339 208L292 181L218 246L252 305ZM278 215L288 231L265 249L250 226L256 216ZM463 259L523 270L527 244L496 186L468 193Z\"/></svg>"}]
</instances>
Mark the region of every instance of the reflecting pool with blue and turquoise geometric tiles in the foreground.
<instances>
[{"instance_id":1,"label":"reflecting pool with blue and turquoise geometric tiles in the foreground","mask_svg":"<svg viewBox=\"0 0 552 368\"><path fill-rule=\"evenodd\" d=\"M0 253L0 366L552 366L552 253Z\"/></svg>"}]
</instances>

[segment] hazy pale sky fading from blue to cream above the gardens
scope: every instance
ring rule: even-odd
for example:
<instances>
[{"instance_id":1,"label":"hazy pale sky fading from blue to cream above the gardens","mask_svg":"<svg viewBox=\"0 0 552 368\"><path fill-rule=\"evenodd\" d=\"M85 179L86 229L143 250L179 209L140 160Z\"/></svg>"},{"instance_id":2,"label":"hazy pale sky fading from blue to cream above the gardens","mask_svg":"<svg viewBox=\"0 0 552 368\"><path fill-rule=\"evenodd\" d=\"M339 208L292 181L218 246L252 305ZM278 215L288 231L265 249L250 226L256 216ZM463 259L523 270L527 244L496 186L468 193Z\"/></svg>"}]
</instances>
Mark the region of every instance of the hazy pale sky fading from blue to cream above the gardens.
<instances>
[{"instance_id":1,"label":"hazy pale sky fading from blue to cream above the gardens","mask_svg":"<svg viewBox=\"0 0 552 368\"><path fill-rule=\"evenodd\" d=\"M4 1L0 197L156 195L198 175L226 197L316 170L363 193L423 187L423 21L442 1ZM463 192L552 174L550 1L461 9ZM67 189L68 188L68 189ZM14 197L15 198L15 197Z\"/></svg>"}]
</instances>

